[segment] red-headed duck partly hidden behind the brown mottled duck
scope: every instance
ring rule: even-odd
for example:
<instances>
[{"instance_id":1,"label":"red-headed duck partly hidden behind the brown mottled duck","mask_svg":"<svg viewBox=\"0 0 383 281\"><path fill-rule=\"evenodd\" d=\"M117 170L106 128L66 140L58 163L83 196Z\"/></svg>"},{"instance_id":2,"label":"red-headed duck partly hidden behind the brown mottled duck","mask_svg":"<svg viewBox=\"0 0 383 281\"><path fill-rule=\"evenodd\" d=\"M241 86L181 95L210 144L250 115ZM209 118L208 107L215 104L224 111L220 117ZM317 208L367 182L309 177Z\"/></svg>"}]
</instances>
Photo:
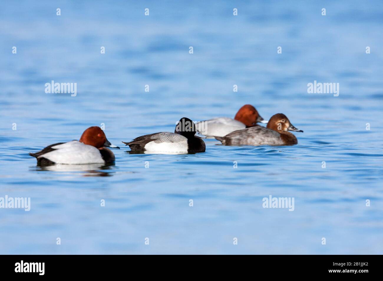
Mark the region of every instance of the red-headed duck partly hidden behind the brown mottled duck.
<instances>
[{"instance_id":1,"label":"red-headed duck partly hidden behind the brown mottled duck","mask_svg":"<svg viewBox=\"0 0 383 281\"><path fill-rule=\"evenodd\" d=\"M198 132L207 138L225 136L236 130L259 126L257 123L267 123L258 113L257 109L250 104L242 106L234 119L229 117L217 117L196 123Z\"/></svg>"}]
</instances>

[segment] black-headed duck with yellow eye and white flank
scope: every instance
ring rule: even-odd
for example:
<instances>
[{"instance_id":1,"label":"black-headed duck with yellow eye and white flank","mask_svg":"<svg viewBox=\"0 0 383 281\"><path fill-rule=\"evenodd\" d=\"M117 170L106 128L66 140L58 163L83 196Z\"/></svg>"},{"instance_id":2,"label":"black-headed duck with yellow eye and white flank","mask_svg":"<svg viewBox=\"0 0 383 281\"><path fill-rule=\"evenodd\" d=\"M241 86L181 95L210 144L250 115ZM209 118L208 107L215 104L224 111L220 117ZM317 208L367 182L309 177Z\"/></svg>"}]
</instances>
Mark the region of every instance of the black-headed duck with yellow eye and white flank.
<instances>
[{"instance_id":1,"label":"black-headed duck with yellow eye and white flank","mask_svg":"<svg viewBox=\"0 0 383 281\"><path fill-rule=\"evenodd\" d=\"M138 136L132 141L123 143L129 145L131 151L149 151L153 153L199 153L205 152L206 145L195 128L195 123L183 117L175 126L174 133L159 132Z\"/></svg>"}]
</instances>

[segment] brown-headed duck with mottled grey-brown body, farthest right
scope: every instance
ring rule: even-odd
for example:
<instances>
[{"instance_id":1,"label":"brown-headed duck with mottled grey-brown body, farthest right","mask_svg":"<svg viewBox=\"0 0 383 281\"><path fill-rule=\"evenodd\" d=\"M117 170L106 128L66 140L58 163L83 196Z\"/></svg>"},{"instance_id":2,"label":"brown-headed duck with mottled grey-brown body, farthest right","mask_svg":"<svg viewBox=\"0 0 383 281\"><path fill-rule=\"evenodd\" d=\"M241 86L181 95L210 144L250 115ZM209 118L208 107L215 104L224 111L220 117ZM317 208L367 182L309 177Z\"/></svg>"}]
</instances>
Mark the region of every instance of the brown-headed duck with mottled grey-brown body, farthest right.
<instances>
[{"instance_id":1,"label":"brown-headed duck with mottled grey-brown body, farthest right","mask_svg":"<svg viewBox=\"0 0 383 281\"><path fill-rule=\"evenodd\" d=\"M215 138L223 145L296 145L298 140L295 135L288 131L302 132L291 124L283 113L274 114L266 127L257 126L237 130L226 136Z\"/></svg>"}]
</instances>

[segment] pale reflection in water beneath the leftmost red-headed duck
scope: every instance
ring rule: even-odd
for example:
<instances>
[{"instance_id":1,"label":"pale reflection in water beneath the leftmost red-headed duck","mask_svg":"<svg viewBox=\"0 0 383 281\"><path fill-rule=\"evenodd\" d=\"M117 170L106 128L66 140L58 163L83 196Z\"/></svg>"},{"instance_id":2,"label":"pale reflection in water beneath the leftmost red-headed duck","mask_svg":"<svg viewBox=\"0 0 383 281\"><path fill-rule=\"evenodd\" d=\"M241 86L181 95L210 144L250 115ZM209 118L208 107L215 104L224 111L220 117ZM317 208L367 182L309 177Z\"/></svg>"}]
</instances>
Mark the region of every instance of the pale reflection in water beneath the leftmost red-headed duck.
<instances>
[{"instance_id":1,"label":"pale reflection in water beneath the leftmost red-headed duck","mask_svg":"<svg viewBox=\"0 0 383 281\"><path fill-rule=\"evenodd\" d=\"M84 177L108 177L113 175L111 171L106 172L100 170L110 170L111 166L115 166L115 164L55 164L50 166L34 166L31 168L35 171L84 172L82 174Z\"/></svg>"}]
</instances>

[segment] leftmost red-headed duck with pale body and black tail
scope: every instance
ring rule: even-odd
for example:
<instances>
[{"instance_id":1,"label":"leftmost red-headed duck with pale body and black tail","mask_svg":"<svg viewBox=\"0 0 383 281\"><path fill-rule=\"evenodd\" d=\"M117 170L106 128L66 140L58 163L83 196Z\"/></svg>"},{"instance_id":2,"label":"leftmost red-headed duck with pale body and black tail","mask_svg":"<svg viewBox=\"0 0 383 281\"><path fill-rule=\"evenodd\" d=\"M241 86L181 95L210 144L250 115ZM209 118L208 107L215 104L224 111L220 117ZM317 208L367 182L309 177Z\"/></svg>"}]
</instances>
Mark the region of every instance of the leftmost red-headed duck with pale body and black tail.
<instances>
[{"instance_id":1,"label":"leftmost red-headed duck with pale body and black tail","mask_svg":"<svg viewBox=\"0 0 383 281\"><path fill-rule=\"evenodd\" d=\"M93 126L82 133L79 141L54 143L36 153L29 153L29 155L36 157L39 166L115 162L115 154L106 147L119 148L106 139L105 133L100 127Z\"/></svg>"}]
</instances>

